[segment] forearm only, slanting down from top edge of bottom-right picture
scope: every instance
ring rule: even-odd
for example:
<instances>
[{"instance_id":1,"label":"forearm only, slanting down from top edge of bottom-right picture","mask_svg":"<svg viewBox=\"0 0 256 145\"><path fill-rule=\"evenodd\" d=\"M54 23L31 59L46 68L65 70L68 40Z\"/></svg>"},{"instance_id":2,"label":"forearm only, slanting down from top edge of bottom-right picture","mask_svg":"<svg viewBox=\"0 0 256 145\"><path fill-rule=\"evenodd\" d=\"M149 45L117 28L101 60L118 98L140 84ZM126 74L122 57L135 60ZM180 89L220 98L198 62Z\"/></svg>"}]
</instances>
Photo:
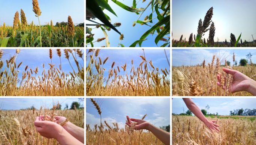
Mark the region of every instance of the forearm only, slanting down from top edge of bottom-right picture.
<instances>
[{"instance_id":1,"label":"forearm only, slanting down from top edge of bottom-right picture","mask_svg":"<svg viewBox=\"0 0 256 145\"><path fill-rule=\"evenodd\" d=\"M208 122L207 118L204 116L204 114L202 114L202 111L197 107L197 105L193 103L191 98L182 98L182 99L185 102L186 106L189 108L189 110L193 114L195 114L196 117L198 117L204 123Z\"/></svg>"}]
</instances>

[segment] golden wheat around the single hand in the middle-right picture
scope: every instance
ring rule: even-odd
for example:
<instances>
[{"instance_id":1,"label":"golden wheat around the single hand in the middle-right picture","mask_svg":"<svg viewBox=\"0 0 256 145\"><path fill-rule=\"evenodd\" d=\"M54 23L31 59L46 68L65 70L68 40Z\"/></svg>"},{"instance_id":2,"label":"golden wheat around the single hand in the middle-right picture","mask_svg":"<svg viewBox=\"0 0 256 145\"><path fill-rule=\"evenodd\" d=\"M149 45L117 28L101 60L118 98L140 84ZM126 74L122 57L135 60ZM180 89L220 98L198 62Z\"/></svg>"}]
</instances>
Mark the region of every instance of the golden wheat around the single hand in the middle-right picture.
<instances>
[{"instance_id":1,"label":"golden wheat around the single hand in the middle-right picture","mask_svg":"<svg viewBox=\"0 0 256 145\"><path fill-rule=\"evenodd\" d=\"M220 65L225 62L225 65ZM199 65L201 64L201 65ZM230 93L217 86L217 74L221 73L221 85L232 89L232 75L223 72L222 68L238 70L255 79L255 64L247 66L228 66L225 58L213 55L211 62L207 64L205 60L199 62L197 66L172 67L172 95L173 96L251 96L246 91Z\"/></svg>"}]
</instances>

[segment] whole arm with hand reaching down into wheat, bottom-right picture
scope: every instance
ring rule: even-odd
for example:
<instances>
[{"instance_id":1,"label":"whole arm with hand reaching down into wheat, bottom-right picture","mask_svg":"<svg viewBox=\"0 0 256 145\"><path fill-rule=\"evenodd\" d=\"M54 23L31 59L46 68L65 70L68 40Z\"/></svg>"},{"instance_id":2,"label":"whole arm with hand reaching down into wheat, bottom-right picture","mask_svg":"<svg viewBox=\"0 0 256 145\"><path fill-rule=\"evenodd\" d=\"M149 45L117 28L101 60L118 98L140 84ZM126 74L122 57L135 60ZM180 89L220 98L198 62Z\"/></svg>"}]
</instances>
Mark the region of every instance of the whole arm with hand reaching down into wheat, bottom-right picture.
<instances>
[{"instance_id":1,"label":"whole arm with hand reaching down into wheat, bottom-right picture","mask_svg":"<svg viewBox=\"0 0 256 145\"><path fill-rule=\"evenodd\" d=\"M219 125L215 124L216 121L209 121L204 114L202 114L202 111L197 107L197 105L192 101L191 98L182 98L185 102L186 106L189 108L189 110L195 114L195 116L200 119L212 132L213 130L216 130L216 132L219 132L220 130L217 127L220 127Z\"/></svg>"}]
</instances>

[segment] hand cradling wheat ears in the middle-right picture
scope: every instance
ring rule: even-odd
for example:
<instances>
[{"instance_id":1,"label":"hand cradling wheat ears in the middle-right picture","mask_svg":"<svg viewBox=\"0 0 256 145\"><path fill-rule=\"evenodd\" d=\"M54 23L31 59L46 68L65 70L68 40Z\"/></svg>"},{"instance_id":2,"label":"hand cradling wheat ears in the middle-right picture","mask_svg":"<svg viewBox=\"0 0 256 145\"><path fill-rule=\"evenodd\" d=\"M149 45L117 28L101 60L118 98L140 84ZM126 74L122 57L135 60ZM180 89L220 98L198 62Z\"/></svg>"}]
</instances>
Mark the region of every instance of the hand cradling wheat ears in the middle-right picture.
<instances>
[{"instance_id":1,"label":"hand cradling wheat ears in the middle-right picture","mask_svg":"<svg viewBox=\"0 0 256 145\"><path fill-rule=\"evenodd\" d=\"M226 83L224 83L224 86L222 89L228 89L229 92L239 92L239 91L248 91L248 88L250 86L250 78L243 73L237 71L237 70L231 70L231 69L222 69L225 73L228 73L233 76L233 82L231 83L231 86L229 88L226 88ZM224 77L224 80L226 82L226 77ZM221 87L221 74L217 74L217 85Z\"/></svg>"}]
</instances>

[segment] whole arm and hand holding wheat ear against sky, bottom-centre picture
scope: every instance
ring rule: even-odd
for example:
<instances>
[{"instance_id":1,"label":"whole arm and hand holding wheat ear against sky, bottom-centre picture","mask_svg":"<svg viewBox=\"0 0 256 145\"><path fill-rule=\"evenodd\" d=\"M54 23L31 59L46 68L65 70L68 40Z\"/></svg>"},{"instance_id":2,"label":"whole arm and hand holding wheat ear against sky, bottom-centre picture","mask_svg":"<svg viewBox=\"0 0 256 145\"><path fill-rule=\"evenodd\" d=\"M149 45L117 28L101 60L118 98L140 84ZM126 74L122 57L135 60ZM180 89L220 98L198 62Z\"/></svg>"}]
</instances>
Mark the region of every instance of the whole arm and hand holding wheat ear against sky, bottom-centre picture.
<instances>
[{"instance_id":1,"label":"whole arm and hand holding wheat ear against sky, bottom-centre picture","mask_svg":"<svg viewBox=\"0 0 256 145\"><path fill-rule=\"evenodd\" d=\"M165 145L170 145L170 133L169 132L159 129L158 127L146 122L145 120L133 119L133 118L130 119L128 116L127 116L127 122L125 124L127 124L129 127L131 127L131 124L132 124L131 121L137 122L137 124L134 126L135 130L140 130L140 129L149 130Z\"/></svg>"}]
</instances>

